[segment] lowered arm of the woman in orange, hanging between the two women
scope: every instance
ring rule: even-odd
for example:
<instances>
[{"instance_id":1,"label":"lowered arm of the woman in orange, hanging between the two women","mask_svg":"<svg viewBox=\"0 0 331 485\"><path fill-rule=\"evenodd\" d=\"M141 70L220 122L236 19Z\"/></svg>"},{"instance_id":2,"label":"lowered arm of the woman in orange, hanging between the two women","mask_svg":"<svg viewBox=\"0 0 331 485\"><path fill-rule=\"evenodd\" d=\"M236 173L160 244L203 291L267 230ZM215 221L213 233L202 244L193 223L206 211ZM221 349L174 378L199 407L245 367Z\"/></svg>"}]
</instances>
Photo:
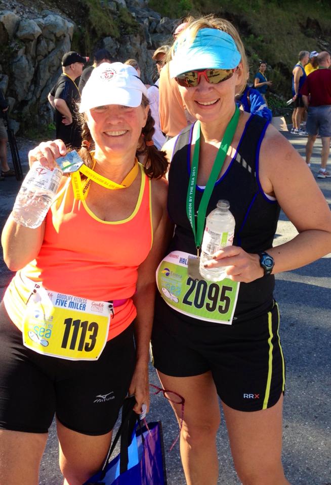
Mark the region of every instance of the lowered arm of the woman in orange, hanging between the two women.
<instances>
[{"instance_id":1,"label":"lowered arm of the woman in orange, hanging between the two women","mask_svg":"<svg viewBox=\"0 0 331 485\"><path fill-rule=\"evenodd\" d=\"M137 413L141 412L143 403L149 406L148 362L156 289L155 271L172 235L167 214L167 192L166 180L152 181L153 246L146 260L139 266L137 291L133 298L137 308L135 319L137 362L129 393L136 397L137 404L134 410Z\"/></svg>"}]
</instances>

